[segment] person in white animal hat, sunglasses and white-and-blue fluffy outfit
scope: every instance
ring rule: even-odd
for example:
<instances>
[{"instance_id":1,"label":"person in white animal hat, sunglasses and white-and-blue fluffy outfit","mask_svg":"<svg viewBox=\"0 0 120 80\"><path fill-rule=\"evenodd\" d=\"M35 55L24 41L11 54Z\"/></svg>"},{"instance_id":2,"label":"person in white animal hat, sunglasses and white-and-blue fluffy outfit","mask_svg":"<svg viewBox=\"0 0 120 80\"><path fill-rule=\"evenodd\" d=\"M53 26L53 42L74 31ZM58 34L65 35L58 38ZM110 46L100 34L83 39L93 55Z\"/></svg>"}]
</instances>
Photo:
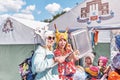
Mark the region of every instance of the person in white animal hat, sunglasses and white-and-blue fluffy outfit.
<instances>
[{"instance_id":1,"label":"person in white animal hat, sunglasses and white-and-blue fluffy outfit","mask_svg":"<svg viewBox=\"0 0 120 80\"><path fill-rule=\"evenodd\" d=\"M40 35L42 45L38 46L32 58L32 72L36 74L35 80L59 80L58 65L65 61L65 57L55 57L53 53L53 44L55 42L55 35L53 31L36 30ZM43 44L44 43L44 44Z\"/></svg>"}]
</instances>

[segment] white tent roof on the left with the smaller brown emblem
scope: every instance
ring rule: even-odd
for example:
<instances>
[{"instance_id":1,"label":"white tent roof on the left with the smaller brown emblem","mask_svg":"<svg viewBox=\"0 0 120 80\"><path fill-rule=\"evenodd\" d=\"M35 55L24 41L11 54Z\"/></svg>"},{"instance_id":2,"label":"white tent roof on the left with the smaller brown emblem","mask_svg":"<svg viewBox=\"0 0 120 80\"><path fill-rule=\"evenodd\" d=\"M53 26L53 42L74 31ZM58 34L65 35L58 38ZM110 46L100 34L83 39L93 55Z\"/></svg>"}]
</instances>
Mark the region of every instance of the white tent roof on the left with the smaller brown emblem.
<instances>
[{"instance_id":1,"label":"white tent roof on the left with the smaller brown emblem","mask_svg":"<svg viewBox=\"0 0 120 80\"><path fill-rule=\"evenodd\" d=\"M0 44L35 44L34 29L43 28L48 23L0 16Z\"/></svg>"}]
</instances>

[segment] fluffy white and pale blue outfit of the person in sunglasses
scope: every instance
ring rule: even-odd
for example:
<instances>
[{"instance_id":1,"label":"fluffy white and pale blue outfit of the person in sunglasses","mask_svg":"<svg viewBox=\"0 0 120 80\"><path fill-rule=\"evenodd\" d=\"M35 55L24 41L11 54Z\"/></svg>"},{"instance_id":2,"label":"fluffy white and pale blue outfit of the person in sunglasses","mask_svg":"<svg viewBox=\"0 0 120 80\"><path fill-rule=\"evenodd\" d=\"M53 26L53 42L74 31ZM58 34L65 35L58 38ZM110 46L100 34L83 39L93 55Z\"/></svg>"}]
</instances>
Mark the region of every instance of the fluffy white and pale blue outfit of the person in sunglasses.
<instances>
[{"instance_id":1,"label":"fluffy white and pale blue outfit of the person in sunglasses","mask_svg":"<svg viewBox=\"0 0 120 80\"><path fill-rule=\"evenodd\" d=\"M32 58L32 71L37 73L35 80L59 80L58 66L53 66L53 57L52 51L41 46L37 48Z\"/></svg>"}]
</instances>

